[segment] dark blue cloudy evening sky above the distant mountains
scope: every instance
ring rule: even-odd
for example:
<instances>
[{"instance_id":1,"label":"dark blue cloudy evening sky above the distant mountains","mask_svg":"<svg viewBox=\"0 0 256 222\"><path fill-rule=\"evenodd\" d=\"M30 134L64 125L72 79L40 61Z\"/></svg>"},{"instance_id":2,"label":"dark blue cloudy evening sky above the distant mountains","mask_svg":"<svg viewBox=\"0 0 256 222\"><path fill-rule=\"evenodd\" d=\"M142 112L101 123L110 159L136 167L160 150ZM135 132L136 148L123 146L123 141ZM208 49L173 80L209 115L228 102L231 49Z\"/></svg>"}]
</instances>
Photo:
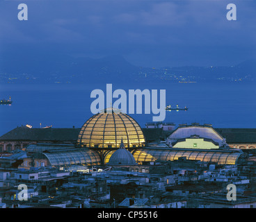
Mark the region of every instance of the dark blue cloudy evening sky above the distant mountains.
<instances>
[{"instance_id":1,"label":"dark blue cloudy evening sky above the distant mountains","mask_svg":"<svg viewBox=\"0 0 256 222\"><path fill-rule=\"evenodd\" d=\"M26 3L29 20L17 19ZM237 21L226 6L237 5ZM124 56L146 67L236 65L256 58L256 2L1 1L0 52L42 49L72 56Z\"/></svg>"}]
</instances>

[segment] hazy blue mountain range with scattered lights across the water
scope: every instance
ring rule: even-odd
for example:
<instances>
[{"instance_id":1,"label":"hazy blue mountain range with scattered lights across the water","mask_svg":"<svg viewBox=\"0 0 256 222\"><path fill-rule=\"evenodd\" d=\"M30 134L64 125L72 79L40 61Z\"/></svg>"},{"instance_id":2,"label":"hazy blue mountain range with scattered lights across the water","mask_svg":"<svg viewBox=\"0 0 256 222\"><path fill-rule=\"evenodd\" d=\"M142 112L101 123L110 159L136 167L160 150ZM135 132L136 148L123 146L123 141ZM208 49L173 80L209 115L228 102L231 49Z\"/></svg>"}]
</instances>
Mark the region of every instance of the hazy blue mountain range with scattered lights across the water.
<instances>
[{"instance_id":1,"label":"hazy blue mountain range with scattered lights across the water","mask_svg":"<svg viewBox=\"0 0 256 222\"><path fill-rule=\"evenodd\" d=\"M227 67L136 67L120 55L88 58L40 50L7 52L0 58L0 83L115 83L127 81L250 81L256 60Z\"/></svg>"}]
</instances>

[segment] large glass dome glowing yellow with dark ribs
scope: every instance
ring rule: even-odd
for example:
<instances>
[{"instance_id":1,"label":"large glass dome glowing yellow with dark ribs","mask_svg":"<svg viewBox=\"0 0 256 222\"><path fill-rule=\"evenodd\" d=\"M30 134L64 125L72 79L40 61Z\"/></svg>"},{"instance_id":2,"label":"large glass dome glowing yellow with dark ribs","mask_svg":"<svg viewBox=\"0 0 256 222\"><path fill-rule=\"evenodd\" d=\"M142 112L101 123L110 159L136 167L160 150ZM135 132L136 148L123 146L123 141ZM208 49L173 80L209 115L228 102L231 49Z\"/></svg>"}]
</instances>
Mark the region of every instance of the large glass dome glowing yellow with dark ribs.
<instances>
[{"instance_id":1,"label":"large glass dome glowing yellow with dark ribs","mask_svg":"<svg viewBox=\"0 0 256 222\"><path fill-rule=\"evenodd\" d=\"M118 109L107 108L83 124L77 142L91 148L125 148L145 146L145 137L138 123Z\"/></svg>"}]
</instances>

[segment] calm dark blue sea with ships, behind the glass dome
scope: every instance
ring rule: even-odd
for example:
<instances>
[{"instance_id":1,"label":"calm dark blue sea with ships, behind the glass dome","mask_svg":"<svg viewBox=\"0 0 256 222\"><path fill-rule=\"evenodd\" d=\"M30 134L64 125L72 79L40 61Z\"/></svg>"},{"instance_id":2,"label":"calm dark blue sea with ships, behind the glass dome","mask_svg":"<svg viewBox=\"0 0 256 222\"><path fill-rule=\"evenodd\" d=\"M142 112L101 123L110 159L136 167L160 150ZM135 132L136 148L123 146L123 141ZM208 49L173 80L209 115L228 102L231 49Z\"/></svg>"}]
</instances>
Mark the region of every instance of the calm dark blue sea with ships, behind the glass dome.
<instances>
[{"instance_id":1,"label":"calm dark blue sea with ships, behind the glass dome","mask_svg":"<svg viewBox=\"0 0 256 222\"><path fill-rule=\"evenodd\" d=\"M209 123L214 128L256 128L256 83L116 83L115 89L166 89L166 105L187 111L166 112L166 122ZM0 99L11 96L12 105L0 105L0 135L18 126L81 128L93 116L93 89L106 92L106 84L2 84ZM158 91L159 92L159 91ZM113 99L113 102L115 99ZM106 106L110 106L106 105ZM128 113L129 114L129 113ZM144 128L156 114L130 114Z\"/></svg>"}]
</instances>

